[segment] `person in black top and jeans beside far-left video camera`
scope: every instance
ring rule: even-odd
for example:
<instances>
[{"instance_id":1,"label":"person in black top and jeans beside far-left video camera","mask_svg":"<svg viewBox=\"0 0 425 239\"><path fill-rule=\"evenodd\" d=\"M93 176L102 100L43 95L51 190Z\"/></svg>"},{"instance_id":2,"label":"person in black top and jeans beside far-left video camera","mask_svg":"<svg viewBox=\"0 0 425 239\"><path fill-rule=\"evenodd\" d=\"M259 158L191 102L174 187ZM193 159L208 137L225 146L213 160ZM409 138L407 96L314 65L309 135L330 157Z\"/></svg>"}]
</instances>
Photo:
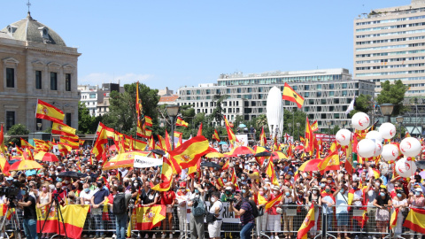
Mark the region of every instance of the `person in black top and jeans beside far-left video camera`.
<instances>
[{"instance_id":1,"label":"person in black top and jeans beside far-left video camera","mask_svg":"<svg viewBox=\"0 0 425 239\"><path fill-rule=\"evenodd\" d=\"M24 210L24 232L27 239L37 239L37 214L35 212L35 198L30 196L27 188L22 188L20 191L23 199L18 202L19 208Z\"/></svg>"}]
</instances>

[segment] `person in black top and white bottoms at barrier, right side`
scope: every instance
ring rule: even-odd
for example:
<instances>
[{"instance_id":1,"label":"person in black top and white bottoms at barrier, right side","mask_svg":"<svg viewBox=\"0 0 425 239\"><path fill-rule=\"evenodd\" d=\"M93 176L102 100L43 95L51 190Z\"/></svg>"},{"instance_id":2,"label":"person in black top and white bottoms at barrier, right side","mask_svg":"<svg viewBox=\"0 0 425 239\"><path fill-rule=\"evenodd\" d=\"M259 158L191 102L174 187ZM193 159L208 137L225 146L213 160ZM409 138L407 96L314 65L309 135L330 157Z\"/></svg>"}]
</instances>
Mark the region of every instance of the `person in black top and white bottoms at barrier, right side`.
<instances>
[{"instance_id":1,"label":"person in black top and white bottoms at barrier, right side","mask_svg":"<svg viewBox=\"0 0 425 239\"><path fill-rule=\"evenodd\" d=\"M374 200L374 205L377 207L375 216L376 226L379 232L385 234L390 221L389 208L392 205L387 189L379 189L379 196Z\"/></svg>"}]
</instances>

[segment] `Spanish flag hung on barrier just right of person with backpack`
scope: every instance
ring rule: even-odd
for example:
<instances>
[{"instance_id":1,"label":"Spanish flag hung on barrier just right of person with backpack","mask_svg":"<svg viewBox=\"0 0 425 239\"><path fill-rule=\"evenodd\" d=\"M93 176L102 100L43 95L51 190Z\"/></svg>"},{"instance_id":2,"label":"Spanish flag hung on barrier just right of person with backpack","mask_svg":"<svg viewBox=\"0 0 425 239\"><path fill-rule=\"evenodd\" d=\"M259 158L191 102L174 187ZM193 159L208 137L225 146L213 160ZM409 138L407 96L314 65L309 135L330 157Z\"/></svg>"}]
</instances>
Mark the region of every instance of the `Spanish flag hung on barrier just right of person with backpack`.
<instances>
[{"instance_id":1,"label":"Spanish flag hung on barrier just right of person with backpack","mask_svg":"<svg viewBox=\"0 0 425 239\"><path fill-rule=\"evenodd\" d=\"M151 230L166 218L166 205L152 205L135 209L135 230Z\"/></svg>"}]
</instances>

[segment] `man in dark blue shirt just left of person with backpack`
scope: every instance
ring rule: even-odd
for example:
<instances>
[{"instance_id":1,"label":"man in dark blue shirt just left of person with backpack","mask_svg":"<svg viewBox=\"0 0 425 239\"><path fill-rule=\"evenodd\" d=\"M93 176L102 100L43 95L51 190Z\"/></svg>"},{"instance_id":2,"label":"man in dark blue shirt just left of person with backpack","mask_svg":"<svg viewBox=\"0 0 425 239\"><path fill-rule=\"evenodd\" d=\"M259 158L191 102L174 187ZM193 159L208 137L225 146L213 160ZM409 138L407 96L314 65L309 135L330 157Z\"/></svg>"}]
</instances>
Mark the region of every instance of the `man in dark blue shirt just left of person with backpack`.
<instances>
[{"instance_id":1,"label":"man in dark blue shirt just left of person with backpack","mask_svg":"<svg viewBox=\"0 0 425 239\"><path fill-rule=\"evenodd\" d=\"M104 181L97 181L97 192L91 197L91 204L93 205L93 216L95 225L97 227L96 236L104 238L104 220L102 219L102 212L104 209L104 201L109 196L109 191L104 189ZM102 235L101 235L102 233Z\"/></svg>"}]
</instances>

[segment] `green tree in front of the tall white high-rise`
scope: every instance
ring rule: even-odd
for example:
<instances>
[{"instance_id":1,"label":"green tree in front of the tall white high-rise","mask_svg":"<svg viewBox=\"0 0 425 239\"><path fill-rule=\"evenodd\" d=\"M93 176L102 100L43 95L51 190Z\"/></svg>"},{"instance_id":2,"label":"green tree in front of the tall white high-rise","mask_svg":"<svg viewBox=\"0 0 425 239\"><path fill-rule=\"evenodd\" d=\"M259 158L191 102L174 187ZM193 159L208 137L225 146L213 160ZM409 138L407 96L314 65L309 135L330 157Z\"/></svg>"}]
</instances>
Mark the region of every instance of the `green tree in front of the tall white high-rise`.
<instances>
[{"instance_id":1,"label":"green tree in front of the tall white high-rise","mask_svg":"<svg viewBox=\"0 0 425 239\"><path fill-rule=\"evenodd\" d=\"M376 97L378 104L394 104L392 116L400 115L407 111L403 105L403 100L408 87L403 85L402 81L394 81L394 84L390 84L390 81L381 82L381 88L381 92Z\"/></svg>"}]
</instances>

